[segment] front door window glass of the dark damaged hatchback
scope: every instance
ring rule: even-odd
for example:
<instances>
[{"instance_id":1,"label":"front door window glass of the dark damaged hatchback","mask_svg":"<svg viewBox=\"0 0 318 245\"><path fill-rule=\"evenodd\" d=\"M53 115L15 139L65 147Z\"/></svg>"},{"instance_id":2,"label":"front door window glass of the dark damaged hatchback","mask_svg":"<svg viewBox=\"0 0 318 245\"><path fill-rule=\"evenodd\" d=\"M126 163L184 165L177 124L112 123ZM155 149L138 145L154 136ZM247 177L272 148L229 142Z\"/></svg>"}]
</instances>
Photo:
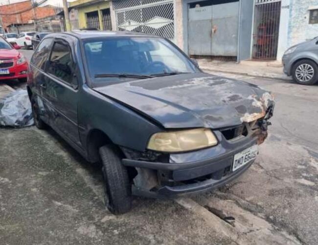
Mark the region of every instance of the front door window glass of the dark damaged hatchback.
<instances>
[{"instance_id":1,"label":"front door window glass of the dark damaged hatchback","mask_svg":"<svg viewBox=\"0 0 318 245\"><path fill-rule=\"evenodd\" d=\"M48 68L48 73L63 80L69 85L76 85L74 73L74 62L72 60L71 50L67 44L55 42Z\"/></svg>"}]
</instances>

